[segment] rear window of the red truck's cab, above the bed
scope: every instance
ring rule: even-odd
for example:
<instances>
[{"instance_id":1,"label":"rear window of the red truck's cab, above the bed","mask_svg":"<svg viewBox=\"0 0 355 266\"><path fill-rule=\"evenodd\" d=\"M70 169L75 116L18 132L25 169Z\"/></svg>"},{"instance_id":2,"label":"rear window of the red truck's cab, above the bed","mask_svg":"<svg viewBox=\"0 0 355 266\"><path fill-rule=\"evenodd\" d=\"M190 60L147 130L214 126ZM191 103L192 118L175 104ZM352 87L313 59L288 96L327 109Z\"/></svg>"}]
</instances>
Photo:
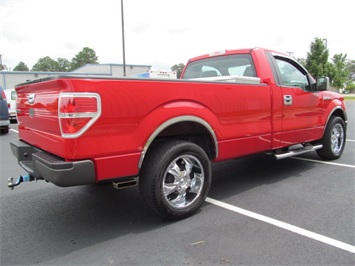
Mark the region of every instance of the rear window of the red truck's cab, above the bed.
<instances>
[{"instance_id":1,"label":"rear window of the red truck's cab, above the bed","mask_svg":"<svg viewBox=\"0 0 355 266\"><path fill-rule=\"evenodd\" d=\"M211 57L187 65L183 79L244 76L257 77L249 54Z\"/></svg>"}]
</instances>

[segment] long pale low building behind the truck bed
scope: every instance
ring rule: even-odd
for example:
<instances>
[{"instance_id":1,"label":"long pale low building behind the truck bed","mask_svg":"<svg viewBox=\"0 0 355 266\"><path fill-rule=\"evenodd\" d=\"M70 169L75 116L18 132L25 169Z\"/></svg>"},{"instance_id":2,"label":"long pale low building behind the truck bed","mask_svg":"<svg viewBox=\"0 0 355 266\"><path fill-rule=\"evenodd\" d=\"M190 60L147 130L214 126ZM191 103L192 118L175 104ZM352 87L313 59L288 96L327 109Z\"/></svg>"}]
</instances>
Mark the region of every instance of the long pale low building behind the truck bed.
<instances>
[{"instance_id":1,"label":"long pale low building behind the truck bed","mask_svg":"<svg viewBox=\"0 0 355 266\"><path fill-rule=\"evenodd\" d=\"M126 76L135 77L137 74L147 72L150 65L127 65ZM122 78L122 64L87 64L72 72L37 72L37 71L0 71L0 86L5 90L14 88L17 84L35 79L53 76L98 76L106 78Z\"/></svg>"}]
</instances>

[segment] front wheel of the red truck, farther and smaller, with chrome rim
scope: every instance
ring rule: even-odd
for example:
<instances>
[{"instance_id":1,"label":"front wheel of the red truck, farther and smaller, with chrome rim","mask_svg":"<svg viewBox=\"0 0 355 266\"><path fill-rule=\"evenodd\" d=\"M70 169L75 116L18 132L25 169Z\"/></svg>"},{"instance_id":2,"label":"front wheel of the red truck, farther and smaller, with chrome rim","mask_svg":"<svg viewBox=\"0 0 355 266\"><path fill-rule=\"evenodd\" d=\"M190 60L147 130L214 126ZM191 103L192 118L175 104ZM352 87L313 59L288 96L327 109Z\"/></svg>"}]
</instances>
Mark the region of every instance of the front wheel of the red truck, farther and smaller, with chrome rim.
<instances>
[{"instance_id":1,"label":"front wheel of the red truck, farther and smaller, with chrome rim","mask_svg":"<svg viewBox=\"0 0 355 266\"><path fill-rule=\"evenodd\" d=\"M345 122L342 118L330 118L325 129L321 144L323 148L317 150L319 157L326 160L335 160L343 154L346 139Z\"/></svg>"}]
</instances>

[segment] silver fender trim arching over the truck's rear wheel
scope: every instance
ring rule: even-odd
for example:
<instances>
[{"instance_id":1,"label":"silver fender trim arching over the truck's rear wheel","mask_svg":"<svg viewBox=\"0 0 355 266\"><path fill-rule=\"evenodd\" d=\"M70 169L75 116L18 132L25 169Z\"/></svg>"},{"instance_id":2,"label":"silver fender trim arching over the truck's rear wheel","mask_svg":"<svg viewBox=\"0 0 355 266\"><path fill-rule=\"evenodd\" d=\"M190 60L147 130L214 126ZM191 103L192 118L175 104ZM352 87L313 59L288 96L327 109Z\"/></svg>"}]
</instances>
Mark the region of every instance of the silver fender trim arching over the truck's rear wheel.
<instances>
[{"instance_id":1,"label":"silver fender trim arching over the truck's rear wheel","mask_svg":"<svg viewBox=\"0 0 355 266\"><path fill-rule=\"evenodd\" d=\"M179 123L179 122L196 122L201 124L202 126L204 126L209 133L211 134L211 137L213 138L213 142L214 142L214 146L215 146L215 152L216 152L216 158L218 157L218 142L217 142L217 137L216 134L213 130L213 128L211 127L211 125L205 121L204 119L197 117L197 116L192 116L192 115L184 115L184 116L177 116L174 118L171 118L167 121L165 121L163 124L161 124L148 138L147 142L145 143L141 156L139 158L139 162L138 162L138 168L140 169L143 165L143 161L144 161L144 157L150 147L150 145L152 144L152 142L154 141L154 139L166 128L168 128L169 126Z\"/></svg>"}]
</instances>

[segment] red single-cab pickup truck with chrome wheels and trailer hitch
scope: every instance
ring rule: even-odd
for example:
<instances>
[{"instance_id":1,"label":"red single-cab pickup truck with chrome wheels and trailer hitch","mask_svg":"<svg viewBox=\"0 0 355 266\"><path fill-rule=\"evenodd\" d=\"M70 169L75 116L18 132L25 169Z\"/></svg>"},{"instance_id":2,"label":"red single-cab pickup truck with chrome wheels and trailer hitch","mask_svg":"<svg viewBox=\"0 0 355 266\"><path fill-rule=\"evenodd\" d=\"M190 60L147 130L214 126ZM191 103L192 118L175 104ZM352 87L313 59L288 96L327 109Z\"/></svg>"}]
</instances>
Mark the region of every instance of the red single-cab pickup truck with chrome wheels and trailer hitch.
<instances>
[{"instance_id":1,"label":"red single-cab pickup truck with chrome wheels and trailer hitch","mask_svg":"<svg viewBox=\"0 0 355 266\"><path fill-rule=\"evenodd\" d=\"M176 80L58 76L19 84L11 149L28 174L8 186L139 185L157 214L181 219L204 202L211 162L315 150L339 158L347 115L328 86L262 48L190 59Z\"/></svg>"}]
</instances>

